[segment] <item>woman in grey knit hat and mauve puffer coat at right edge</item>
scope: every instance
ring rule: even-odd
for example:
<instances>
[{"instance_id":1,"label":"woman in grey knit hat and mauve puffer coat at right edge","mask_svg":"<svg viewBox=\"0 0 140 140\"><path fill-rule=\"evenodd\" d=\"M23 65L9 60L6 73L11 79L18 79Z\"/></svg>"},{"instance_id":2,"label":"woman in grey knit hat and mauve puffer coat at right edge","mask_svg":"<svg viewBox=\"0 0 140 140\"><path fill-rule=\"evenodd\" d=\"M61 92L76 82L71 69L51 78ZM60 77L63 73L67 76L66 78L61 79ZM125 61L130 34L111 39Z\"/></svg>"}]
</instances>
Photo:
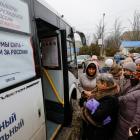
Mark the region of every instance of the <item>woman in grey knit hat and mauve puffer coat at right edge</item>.
<instances>
[{"instance_id":1,"label":"woman in grey knit hat and mauve puffer coat at right edge","mask_svg":"<svg viewBox=\"0 0 140 140\"><path fill-rule=\"evenodd\" d=\"M140 127L140 82L136 75L136 64L127 63L124 66L124 76L128 84L123 96L119 97L119 118L114 140L128 140L129 131L135 133Z\"/></svg>"}]
</instances>

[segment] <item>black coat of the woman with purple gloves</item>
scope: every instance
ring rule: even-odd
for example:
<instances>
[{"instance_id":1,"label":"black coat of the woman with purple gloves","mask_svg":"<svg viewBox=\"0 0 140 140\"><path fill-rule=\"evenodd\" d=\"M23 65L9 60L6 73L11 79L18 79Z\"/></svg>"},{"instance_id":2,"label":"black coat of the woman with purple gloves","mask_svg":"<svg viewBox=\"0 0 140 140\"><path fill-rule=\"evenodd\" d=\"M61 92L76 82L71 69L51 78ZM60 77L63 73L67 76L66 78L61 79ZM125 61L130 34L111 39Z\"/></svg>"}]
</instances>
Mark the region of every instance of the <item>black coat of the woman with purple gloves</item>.
<instances>
[{"instance_id":1,"label":"black coat of the woman with purple gloves","mask_svg":"<svg viewBox=\"0 0 140 140\"><path fill-rule=\"evenodd\" d=\"M109 140L115 129L117 114L118 114L118 99L115 96L105 96L98 100L100 105L93 115L89 115L95 122L95 125L86 120L87 126L85 129L88 140ZM86 114L87 115L87 114ZM111 122L106 125L103 120L111 117Z\"/></svg>"}]
</instances>

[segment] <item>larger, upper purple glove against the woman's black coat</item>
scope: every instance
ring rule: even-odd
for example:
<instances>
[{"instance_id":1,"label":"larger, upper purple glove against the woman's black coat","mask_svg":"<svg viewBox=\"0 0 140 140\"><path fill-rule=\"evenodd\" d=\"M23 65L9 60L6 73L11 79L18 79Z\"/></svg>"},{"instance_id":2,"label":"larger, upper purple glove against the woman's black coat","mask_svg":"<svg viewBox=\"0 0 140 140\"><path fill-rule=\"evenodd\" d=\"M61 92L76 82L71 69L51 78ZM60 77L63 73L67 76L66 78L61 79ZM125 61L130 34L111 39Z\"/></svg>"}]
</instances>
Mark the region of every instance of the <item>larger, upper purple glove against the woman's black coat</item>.
<instances>
[{"instance_id":1,"label":"larger, upper purple glove against the woman's black coat","mask_svg":"<svg viewBox=\"0 0 140 140\"><path fill-rule=\"evenodd\" d=\"M100 103L95 99L90 99L85 104L86 108L91 111L91 114L94 114L99 105Z\"/></svg>"}]
</instances>

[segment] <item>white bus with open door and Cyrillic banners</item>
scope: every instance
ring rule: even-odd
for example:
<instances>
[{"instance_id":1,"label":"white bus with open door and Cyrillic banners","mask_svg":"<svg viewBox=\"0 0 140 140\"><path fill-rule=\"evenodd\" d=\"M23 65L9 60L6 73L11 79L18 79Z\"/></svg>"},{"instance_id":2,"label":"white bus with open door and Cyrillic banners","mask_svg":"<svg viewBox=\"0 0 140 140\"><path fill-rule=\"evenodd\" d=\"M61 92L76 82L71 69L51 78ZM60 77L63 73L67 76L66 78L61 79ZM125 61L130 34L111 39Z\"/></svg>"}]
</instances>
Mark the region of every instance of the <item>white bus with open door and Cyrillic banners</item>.
<instances>
[{"instance_id":1,"label":"white bus with open door and Cyrillic banners","mask_svg":"<svg viewBox=\"0 0 140 140\"><path fill-rule=\"evenodd\" d=\"M0 0L0 140L54 139L77 77L72 27L45 0Z\"/></svg>"}]
</instances>

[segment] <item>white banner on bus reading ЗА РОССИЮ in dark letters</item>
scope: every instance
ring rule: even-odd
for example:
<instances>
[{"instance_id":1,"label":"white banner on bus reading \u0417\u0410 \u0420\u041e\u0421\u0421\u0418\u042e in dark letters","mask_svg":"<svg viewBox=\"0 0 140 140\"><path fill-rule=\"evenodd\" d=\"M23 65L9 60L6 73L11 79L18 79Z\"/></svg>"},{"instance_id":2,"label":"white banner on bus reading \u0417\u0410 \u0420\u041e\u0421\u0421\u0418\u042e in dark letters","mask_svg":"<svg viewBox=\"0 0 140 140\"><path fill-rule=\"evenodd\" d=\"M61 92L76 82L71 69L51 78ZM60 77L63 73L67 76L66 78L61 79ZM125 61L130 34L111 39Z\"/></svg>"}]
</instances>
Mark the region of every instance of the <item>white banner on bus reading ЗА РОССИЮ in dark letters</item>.
<instances>
[{"instance_id":1,"label":"white banner on bus reading \u0417\u0410 \u0420\u041e\u0421\u0421\u0418\u042e in dark letters","mask_svg":"<svg viewBox=\"0 0 140 140\"><path fill-rule=\"evenodd\" d=\"M35 76L30 36L0 31L0 89Z\"/></svg>"}]
</instances>

